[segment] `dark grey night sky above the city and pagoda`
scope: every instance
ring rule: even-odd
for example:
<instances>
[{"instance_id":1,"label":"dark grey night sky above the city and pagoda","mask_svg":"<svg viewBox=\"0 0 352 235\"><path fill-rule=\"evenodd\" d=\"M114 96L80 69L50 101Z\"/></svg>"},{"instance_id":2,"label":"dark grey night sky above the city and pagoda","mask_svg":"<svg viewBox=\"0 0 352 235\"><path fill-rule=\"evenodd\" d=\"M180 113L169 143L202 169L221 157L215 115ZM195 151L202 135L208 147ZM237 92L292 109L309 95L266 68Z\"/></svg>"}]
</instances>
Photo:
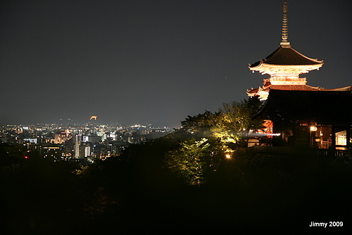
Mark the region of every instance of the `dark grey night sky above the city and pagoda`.
<instances>
[{"instance_id":1,"label":"dark grey night sky above the city and pagoda","mask_svg":"<svg viewBox=\"0 0 352 235\"><path fill-rule=\"evenodd\" d=\"M246 99L248 63L281 42L281 0L1 1L0 125L180 126ZM351 80L350 0L294 0L289 42L325 61L311 86Z\"/></svg>"}]
</instances>

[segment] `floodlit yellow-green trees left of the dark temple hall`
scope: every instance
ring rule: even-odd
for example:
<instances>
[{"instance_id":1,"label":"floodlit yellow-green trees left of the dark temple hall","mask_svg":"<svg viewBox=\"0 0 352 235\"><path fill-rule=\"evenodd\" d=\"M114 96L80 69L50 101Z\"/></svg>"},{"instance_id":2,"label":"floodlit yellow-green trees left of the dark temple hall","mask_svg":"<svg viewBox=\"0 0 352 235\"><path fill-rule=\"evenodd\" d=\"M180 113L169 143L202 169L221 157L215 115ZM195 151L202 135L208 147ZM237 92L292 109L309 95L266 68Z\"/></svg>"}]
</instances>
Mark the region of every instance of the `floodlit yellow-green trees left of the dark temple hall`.
<instances>
[{"instance_id":1,"label":"floodlit yellow-green trees left of the dark temple hall","mask_svg":"<svg viewBox=\"0 0 352 235\"><path fill-rule=\"evenodd\" d=\"M188 184L200 185L206 181L210 168L216 169L221 157L238 146L246 146L250 129L261 128L261 122L252 120L261 103L258 98L240 102L223 103L222 108L211 113L188 116L182 121L182 128L170 139L191 136L182 140L180 148L165 154L168 167L183 177ZM176 138L175 143L177 143ZM197 140L198 139L198 140ZM199 140L200 139L200 140Z\"/></svg>"}]
</instances>

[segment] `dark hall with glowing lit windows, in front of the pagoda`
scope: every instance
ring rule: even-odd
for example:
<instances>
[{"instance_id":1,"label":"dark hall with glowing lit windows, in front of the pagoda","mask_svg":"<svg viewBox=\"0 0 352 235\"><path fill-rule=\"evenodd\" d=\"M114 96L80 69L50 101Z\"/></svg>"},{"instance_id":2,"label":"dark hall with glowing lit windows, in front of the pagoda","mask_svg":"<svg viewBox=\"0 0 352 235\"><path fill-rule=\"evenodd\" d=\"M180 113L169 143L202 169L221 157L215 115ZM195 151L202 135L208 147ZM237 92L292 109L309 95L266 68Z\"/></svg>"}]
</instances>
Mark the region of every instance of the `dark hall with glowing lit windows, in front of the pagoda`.
<instances>
[{"instance_id":1,"label":"dark hall with glowing lit windows, in front of the pagoda","mask_svg":"<svg viewBox=\"0 0 352 235\"><path fill-rule=\"evenodd\" d=\"M352 147L351 91L272 90L254 116L272 121L273 146Z\"/></svg>"}]
</instances>

